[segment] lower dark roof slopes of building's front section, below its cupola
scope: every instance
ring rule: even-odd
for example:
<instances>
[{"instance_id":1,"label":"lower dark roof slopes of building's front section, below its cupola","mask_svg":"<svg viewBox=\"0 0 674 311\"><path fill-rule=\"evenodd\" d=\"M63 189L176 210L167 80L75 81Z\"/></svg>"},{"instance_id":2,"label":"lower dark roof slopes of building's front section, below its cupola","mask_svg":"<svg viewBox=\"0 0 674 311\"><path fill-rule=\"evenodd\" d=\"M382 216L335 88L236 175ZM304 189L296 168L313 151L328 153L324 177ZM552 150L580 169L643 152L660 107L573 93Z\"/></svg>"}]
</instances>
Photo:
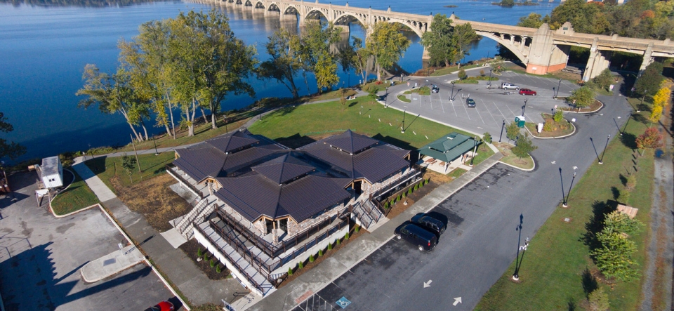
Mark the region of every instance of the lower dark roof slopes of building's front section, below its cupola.
<instances>
[{"instance_id":1,"label":"lower dark roof slopes of building's front section, below its cupola","mask_svg":"<svg viewBox=\"0 0 674 311\"><path fill-rule=\"evenodd\" d=\"M310 174L279 185L253 172L218 178L223 187L216 196L251 222L260 216L274 219L290 216L300 223L351 197L341 181L341 178Z\"/></svg>"}]
</instances>

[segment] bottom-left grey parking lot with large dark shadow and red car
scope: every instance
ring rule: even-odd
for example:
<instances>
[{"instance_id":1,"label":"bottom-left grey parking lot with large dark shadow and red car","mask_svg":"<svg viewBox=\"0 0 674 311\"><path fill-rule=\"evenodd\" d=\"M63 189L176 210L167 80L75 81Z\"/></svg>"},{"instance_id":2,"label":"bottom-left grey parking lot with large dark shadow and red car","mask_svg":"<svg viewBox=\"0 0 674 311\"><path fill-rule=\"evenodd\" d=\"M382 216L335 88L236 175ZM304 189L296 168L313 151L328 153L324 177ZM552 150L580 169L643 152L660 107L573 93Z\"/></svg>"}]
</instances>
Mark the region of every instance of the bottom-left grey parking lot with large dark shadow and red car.
<instances>
[{"instance_id":1,"label":"bottom-left grey parking lot with large dark shadow and red car","mask_svg":"<svg viewBox=\"0 0 674 311\"><path fill-rule=\"evenodd\" d=\"M79 269L124 237L100 209L54 218L37 207L37 174L10 177L0 197L0 292L6 310L144 310L173 295L146 265L86 284Z\"/></svg>"}]
</instances>

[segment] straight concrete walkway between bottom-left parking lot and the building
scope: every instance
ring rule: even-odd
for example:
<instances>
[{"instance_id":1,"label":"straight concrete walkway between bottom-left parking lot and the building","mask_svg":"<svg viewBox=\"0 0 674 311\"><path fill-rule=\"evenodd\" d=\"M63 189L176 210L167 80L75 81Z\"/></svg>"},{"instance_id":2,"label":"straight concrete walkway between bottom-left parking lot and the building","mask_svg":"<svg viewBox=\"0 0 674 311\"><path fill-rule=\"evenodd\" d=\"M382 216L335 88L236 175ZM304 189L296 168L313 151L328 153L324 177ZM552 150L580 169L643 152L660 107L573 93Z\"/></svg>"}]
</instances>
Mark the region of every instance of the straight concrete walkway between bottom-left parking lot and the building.
<instances>
[{"instance_id":1,"label":"straight concrete walkway between bottom-left parking lot and the building","mask_svg":"<svg viewBox=\"0 0 674 311\"><path fill-rule=\"evenodd\" d=\"M103 181L91 172L81 157L75 159L72 167L98 196L105 209L124 228L126 234L133 239L138 249L149 256L150 261L189 300L190 305L204 303L221 305L222 299L233 301L248 293L234 279L213 281L206 277L183 251L174 249L169 241L161 237L143 215L128 209Z\"/></svg>"}]
</instances>

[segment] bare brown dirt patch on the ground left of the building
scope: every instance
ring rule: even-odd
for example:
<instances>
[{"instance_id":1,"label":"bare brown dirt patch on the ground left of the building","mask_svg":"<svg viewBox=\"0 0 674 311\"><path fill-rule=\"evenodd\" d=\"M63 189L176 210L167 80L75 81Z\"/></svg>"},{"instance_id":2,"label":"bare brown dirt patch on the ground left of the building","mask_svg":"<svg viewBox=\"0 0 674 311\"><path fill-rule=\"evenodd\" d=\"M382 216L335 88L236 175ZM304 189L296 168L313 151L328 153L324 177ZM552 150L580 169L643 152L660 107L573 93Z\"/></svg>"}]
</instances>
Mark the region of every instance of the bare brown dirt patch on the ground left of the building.
<instances>
[{"instance_id":1,"label":"bare brown dirt patch on the ground left of the building","mask_svg":"<svg viewBox=\"0 0 674 311\"><path fill-rule=\"evenodd\" d=\"M131 211L142 213L147 223L159 232L171 229L169 220L183 216L192 209L185 199L169 188L176 183L169 174L164 173L130 187L122 186L117 178L111 181L126 206Z\"/></svg>"}]
</instances>

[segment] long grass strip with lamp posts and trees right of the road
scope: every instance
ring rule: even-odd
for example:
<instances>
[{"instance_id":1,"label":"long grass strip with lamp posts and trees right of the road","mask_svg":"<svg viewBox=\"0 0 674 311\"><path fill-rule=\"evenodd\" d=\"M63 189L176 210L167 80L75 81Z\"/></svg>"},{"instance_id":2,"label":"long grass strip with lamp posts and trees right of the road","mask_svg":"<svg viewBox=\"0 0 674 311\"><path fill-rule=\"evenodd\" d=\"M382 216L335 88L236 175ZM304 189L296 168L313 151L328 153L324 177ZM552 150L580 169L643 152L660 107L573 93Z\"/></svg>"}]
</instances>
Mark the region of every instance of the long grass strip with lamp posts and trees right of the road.
<instances>
[{"instance_id":1,"label":"long grass strip with lamp posts and trees right of the road","mask_svg":"<svg viewBox=\"0 0 674 311\"><path fill-rule=\"evenodd\" d=\"M591 290L595 286L608 293L611 310L639 310L642 279L595 283L594 276L600 274L588 255L583 234L588 232L586 226L595 213L600 213L604 206L614 206L614 191L625 189L626 168L633 166L636 154L631 147L645 128L644 123L632 121L623 136L609 143L604 164L593 164L583 178L577 180L569 196L569 208L556 209L531 240L520 270L521 283L510 281L515 270L513 260L475 310L584 310L587 288ZM652 150L644 157L636 157L637 185L626 202L639 209L636 218L646 224L645 230L630 237L637 244L633 259L642 271L652 204L653 157ZM571 218L571 222L564 223L564 218Z\"/></svg>"}]
</instances>

